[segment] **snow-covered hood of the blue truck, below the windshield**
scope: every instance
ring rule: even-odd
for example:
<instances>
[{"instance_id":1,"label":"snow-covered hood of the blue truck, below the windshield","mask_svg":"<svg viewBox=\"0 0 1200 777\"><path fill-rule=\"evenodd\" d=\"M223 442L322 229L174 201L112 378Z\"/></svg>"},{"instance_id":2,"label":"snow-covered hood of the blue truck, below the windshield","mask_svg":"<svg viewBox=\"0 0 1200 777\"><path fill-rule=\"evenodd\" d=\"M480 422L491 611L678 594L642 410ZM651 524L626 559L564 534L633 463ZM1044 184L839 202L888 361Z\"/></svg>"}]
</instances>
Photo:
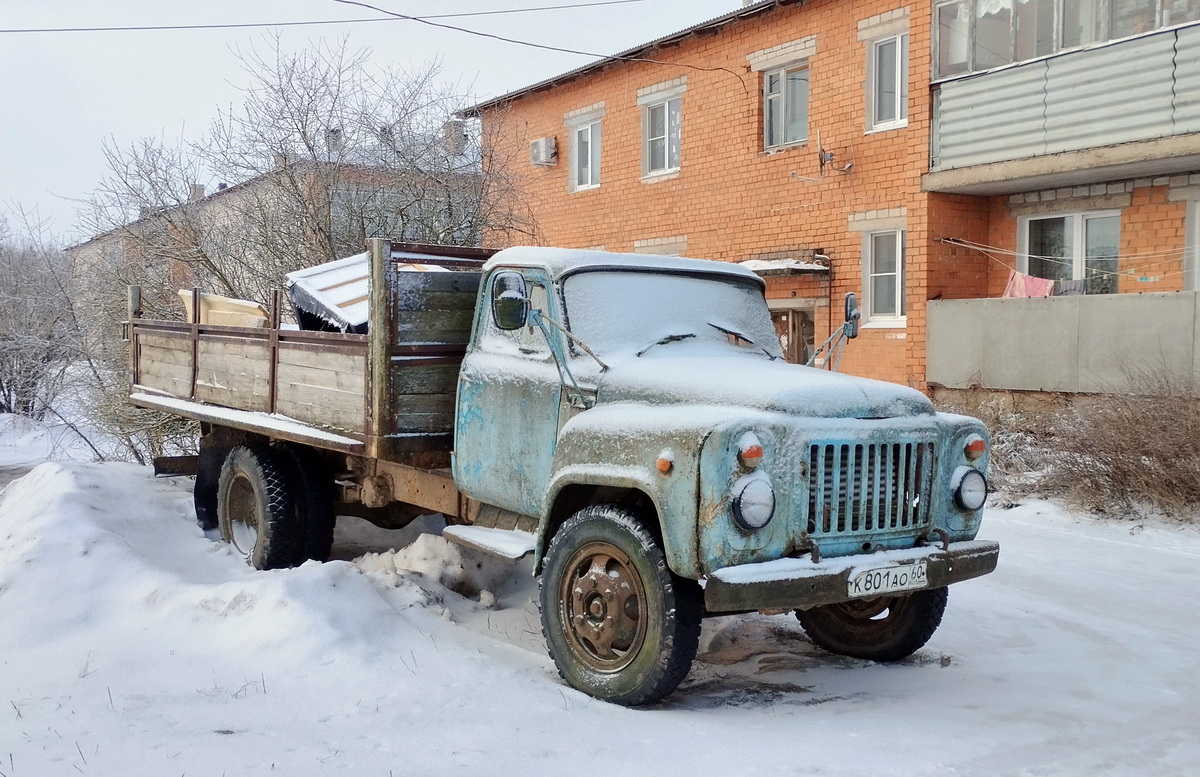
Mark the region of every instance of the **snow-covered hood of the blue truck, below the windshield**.
<instances>
[{"instance_id":1,"label":"snow-covered hood of the blue truck, below the windshield","mask_svg":"<svg viewBox=\"0 0 1200 777\"><path fill-rule=\"evenodd\" d=\"M707 404L822 418L931 415L913 389L881 380L769 361L757 355L622 360L600 377L596 402Z\"/></svg>"}]
</instances>

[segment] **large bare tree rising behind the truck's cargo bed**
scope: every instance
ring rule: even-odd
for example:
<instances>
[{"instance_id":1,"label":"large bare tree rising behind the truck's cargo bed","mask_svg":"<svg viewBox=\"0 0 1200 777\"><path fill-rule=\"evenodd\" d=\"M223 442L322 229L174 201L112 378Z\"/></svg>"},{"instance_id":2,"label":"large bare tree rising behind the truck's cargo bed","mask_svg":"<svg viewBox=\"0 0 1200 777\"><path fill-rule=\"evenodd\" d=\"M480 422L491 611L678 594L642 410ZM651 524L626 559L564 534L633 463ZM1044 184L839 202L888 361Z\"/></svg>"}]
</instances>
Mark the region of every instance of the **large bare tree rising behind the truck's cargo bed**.
<instances>
[{"instance_id":1,"label":"large bare tree rising behind the truck's cargo bed","mask_svg":"<svg viewBox=\"0 0 1200 777\"><path fill-rule=\"evenodd\" d=\"M455 118L463 98L437 66L379 67L344 42L286 52L277 37L239 56L244 102L202 140L106 144L110 174L85 227L119 236L127 260L167 265L175 288L264 302L284 273L359 253L367 237L533 237L511 161ZM202 181L229 186L205 197Z\"/></svg>"}]
</instances>

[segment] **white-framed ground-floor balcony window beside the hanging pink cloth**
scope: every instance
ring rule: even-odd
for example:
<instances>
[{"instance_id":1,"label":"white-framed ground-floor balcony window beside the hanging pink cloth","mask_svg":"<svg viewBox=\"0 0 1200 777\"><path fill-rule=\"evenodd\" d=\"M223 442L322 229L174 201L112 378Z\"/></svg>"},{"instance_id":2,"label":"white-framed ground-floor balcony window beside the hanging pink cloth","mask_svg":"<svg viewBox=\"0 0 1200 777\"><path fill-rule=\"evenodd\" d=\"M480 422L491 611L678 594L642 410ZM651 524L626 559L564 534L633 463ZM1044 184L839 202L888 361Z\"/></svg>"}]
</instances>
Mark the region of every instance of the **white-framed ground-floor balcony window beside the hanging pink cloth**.
<instances>
[{"instance_id":1,"label":"white-framed ground-floor balcony window beside the hanging pink cloth","mask_svg":"<svg viewBox=\"0 0 1200 777\"><path fill-rule=\"evenodd\" d=\"M1019 265L1038 278L1081 281L1085 294L1116 294L1120 240L1117 211L1030 216L1020 222Z\"/></svg>"}]
</instances>

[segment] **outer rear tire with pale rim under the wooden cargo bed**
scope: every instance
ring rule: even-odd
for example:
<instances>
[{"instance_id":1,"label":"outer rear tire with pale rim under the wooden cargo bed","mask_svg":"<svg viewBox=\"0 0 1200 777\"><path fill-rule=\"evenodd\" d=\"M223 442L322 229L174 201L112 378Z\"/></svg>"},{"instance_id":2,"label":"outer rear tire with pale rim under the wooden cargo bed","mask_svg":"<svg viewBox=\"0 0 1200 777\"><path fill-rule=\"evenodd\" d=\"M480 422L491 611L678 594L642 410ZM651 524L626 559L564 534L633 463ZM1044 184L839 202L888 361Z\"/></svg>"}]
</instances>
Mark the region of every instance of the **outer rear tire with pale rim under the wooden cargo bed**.
<instances>
[{"instance_id":1,"label":"outer rear tire with pale rim under the wooden cargo bed","mask_svg":"<svg viewBox=\"0 0 1200 777\"><path fill-rule=\"evenodd\" d=\"M301 540L286 465L265 446L239 445L221 466L221 537L256 570L292 566Z\"/></svg>"}]
</instances>

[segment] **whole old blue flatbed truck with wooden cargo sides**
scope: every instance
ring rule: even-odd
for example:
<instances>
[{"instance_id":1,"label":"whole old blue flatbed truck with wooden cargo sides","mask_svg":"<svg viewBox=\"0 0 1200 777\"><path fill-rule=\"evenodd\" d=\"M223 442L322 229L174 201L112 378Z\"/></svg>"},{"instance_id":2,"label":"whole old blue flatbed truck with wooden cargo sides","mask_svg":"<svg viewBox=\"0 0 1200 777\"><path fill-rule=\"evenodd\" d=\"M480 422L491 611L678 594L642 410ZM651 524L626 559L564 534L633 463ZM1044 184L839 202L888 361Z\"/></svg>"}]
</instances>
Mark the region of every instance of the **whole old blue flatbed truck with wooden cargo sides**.
<instances>
[{"instance_id":1,"label":"whole old blue flatbed truck with wooden cargo sides","mask_svg":"<svg viewBox=\"0 0 1200 777\"><path fill-rule=\"evenodd\" d=\"M190 320L149 320L131 290L131 400L199 422L176 469L254 567L324 560L336 516L442 513L450 540L533 554L559 674L622 705L679 685L706 616L794 613L827 651L899 661L996 567L984 426L787 363L749 270L386 240L360 259L359 291L325 289L365 309L343 331L282 325L278 293L264 326L202 321L198 293Z\"/></svg>"}]
</instances>

